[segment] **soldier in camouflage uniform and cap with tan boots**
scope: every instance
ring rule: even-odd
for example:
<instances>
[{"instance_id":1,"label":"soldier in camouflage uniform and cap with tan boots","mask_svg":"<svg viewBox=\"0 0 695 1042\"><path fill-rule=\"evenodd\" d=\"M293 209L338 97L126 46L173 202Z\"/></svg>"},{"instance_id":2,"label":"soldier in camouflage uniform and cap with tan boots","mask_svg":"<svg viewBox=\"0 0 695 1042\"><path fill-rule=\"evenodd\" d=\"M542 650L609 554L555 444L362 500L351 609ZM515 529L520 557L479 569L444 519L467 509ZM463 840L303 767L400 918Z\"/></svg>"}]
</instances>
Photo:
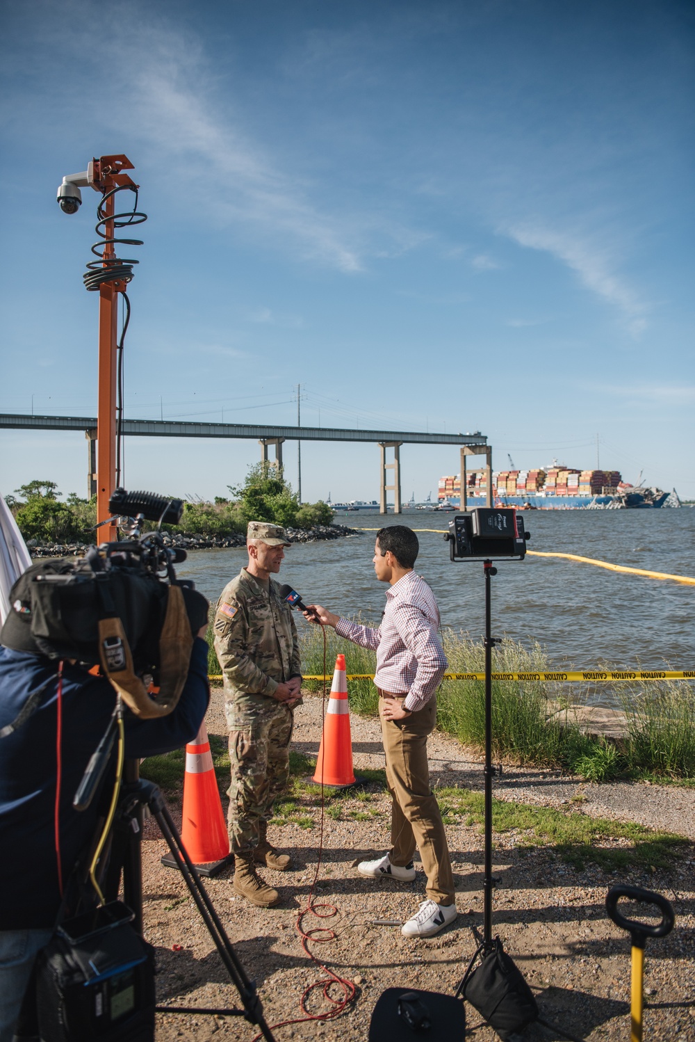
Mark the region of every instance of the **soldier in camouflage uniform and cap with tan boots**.
<instances>
[{"instance_id":1,"label":"soldier in camouflage uniform and cap with tan boots","mask_svg":"<svg viewBox=\"0 0 695 1042\"><path fill-rule=\"evenodd\" d=\"M279 894L256 865L284 871L287 854L267 841L267 822L289 776L293 706L301 701L301 663L292 610L271 573L290 544L284 528L251 521L249 564L217 601L214 647L222 666L229 726L229 836L234 890L253 904L277 904Z\"/></svg>"}]
</instances>

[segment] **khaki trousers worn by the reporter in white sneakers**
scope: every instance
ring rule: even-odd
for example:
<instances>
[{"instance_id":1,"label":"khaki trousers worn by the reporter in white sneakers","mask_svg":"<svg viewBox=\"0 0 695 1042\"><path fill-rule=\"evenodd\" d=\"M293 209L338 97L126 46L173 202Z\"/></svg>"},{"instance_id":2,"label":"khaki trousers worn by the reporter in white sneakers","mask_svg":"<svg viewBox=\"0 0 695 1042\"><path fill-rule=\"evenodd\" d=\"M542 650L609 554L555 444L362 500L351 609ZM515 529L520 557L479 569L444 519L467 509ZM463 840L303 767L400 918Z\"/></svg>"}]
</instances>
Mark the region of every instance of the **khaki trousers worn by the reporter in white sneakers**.
<instances>
[{"instance_id":1,"label":"khaki trousers worn by the reporter in white sneakers","mask_svg":"<svg viewBox=\"0 0 695 1042\"><path fill-rule=\"evenodd\" d=\"M380 694L390 698L405 695ZM428 877L427 895L437 904L453 904L454 876L439 804L430 788L428 735L437 719L437 699L403 720L385 720L379 699L381 733L386 753L386 784L391 793L392 865L403 868L419 849Z\"/></svg>"}]
</instances>

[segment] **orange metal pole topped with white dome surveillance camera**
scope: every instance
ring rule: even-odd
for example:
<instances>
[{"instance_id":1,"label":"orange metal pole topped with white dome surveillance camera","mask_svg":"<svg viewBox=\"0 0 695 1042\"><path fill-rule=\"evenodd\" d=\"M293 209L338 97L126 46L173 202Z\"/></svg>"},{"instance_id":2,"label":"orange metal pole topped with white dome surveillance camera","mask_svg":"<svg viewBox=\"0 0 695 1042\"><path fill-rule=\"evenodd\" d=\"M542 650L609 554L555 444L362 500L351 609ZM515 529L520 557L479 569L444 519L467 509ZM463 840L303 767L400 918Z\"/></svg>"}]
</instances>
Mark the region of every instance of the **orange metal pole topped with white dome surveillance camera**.
<instances>
[{"instance_id":1,"label":"orange metal pole topped with white dome surveillance camera","mask_svg":"<svg viewBox=\"0 0 695 1042\"><path fill-rule=\"evenodd\" d=\"M117 240L115 196L119 188L138 185L124 173L132 170L133 165L125 155L102 155L93 159L87 169L79 174L69 174L63 177L58 189L58 202L65 213L74 214L81 203L79 187L91 187L101 193L103 201L99 207L99 224L97 233L103 243L93 246L92 250L100 259L88 265L89 271L84 276L87 290L99 291L99 368L97 376L97 524L99 542L111 542L118 538L114 524L103 524L110 517L108 501L115 489L117 482L117 354L118 354L118 312L119 296L125 293L132 278L134 262L122 262L115 253L117 242L128 242L140 245L135 240ZM144 220L143 215L135 215ZM114 221L114 218L117 221ZM131 220L123 223L140 223ZM102 250L103 246L103 250Z\"/></svg>"}]
</instances>

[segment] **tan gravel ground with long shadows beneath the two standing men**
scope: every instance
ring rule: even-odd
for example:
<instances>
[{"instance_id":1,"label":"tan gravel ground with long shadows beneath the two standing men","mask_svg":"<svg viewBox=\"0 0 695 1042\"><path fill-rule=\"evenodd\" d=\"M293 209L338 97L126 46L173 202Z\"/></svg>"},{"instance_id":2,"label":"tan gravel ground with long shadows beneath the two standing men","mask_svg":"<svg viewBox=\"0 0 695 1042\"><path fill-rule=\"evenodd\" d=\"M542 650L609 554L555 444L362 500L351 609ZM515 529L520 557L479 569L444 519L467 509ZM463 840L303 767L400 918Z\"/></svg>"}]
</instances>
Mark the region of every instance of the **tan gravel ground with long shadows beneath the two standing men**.
<instances>
[{"instance_id":1,"label":"tan gravel ground with long shadows beneath the two standing men","mask_svg":"<svg viewBox=\"0 0 695 1042\"><path fill-rule=\"evenodd\" d=\"M308 697L297 712L293 745L315 754L320 738L320 699ZM226 736L222 691L213 692L208 730ZM352 719L355 766L383 766L379 724ZM430 740L433 780L482 788L481 765L453 739L435 734ZM389 804L378 786L367 801L342 801L339 820L326 817L324 865L317 886L320 901L337 913L324 920L335 939L311 947L337 974L353 981L356 998L338 1018L278 1028L284 1039L366 1040L375 1002L388 987L405 986L453 993L471 957L475 941L471 926L482 927L482 836L462 823L447 826L457 874L459 917L437 937L412 941L397 926L376 925L378 918L403 921L424 896L419 863L413 884L372 883L354 867L388 847ZM549 772L505 767L495 779L500 798L561 805L577 795L586 799L585 813L659 824L695 838L692 814L695 793L651 786L587 786ZM175 817L180 808L172 802ZM317 817L317 810L314 816ZM359 819L355 817L359 815ZM316 858L318 828L298 824L271 826L271 838L291 852L294 869L267 871L266 878L282 894L277 909L253 909L231 889L231 872L206 880L215 908L250 977L256 981L269 1024L299 1016L304 989L321 976L307 959L294 928L306 904ZM616 841L617 842L617 841ZM157 951L160 1002L172 1006L229 1007L238 1003L234 988L200 920L185 887L175 871L159 864L165 845L153 822L148 822L143 850L146 936ZM551 851L539 847L522 857L513 834L495 837L493 871L499 880L494 896L494 933L534 989L542 1015L575 1036L598 1040L629 1038L629 943L606 918L608 888L618 882L595 866L577 871ZM621 878L620 882L623 882ZM677 925L664 940L647 943L645 960L645 1038L664 1042L695 1039L695 877L693 854L668 872L646 875L636 871L628 880L666 894L674 904ZM321 922L308 915L305 928ZM312 1011L324 1012L320 989L309 999ZM466 1007L474 1042L497 1036L481 1025ZM240 1018L196 1014L157 1015L157 1039L207 1040L228 1038L251 1042L255 1031ZM535 1025L527 1042L561 1039L561 1033Z\"/></svg>"}]
</instances>

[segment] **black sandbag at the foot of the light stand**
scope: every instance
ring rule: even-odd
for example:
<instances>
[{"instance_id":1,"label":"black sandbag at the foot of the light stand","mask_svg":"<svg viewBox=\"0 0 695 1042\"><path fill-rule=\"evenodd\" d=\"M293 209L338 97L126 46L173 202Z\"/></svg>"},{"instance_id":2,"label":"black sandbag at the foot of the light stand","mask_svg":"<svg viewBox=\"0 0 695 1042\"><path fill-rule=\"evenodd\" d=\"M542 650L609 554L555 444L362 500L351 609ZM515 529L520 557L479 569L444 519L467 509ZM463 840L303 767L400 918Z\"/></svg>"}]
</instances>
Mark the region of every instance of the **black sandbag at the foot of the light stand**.
<instances>
[{"instance_id":1,"label":"black sandbag at the foot of the light stand","mask_svg":"<svg viewBox=\"0 0 695 1042\"><path fill-rule=\"evenodd\" d=\"M471 959L458 993L463 994L505 1040L538 1019L538 1006L521 971L507 954L498 937L494 939L493 950L483 956L480 965L473 969L473 963L482 951L481 946Z\"/></svg>"}]
</instances>

